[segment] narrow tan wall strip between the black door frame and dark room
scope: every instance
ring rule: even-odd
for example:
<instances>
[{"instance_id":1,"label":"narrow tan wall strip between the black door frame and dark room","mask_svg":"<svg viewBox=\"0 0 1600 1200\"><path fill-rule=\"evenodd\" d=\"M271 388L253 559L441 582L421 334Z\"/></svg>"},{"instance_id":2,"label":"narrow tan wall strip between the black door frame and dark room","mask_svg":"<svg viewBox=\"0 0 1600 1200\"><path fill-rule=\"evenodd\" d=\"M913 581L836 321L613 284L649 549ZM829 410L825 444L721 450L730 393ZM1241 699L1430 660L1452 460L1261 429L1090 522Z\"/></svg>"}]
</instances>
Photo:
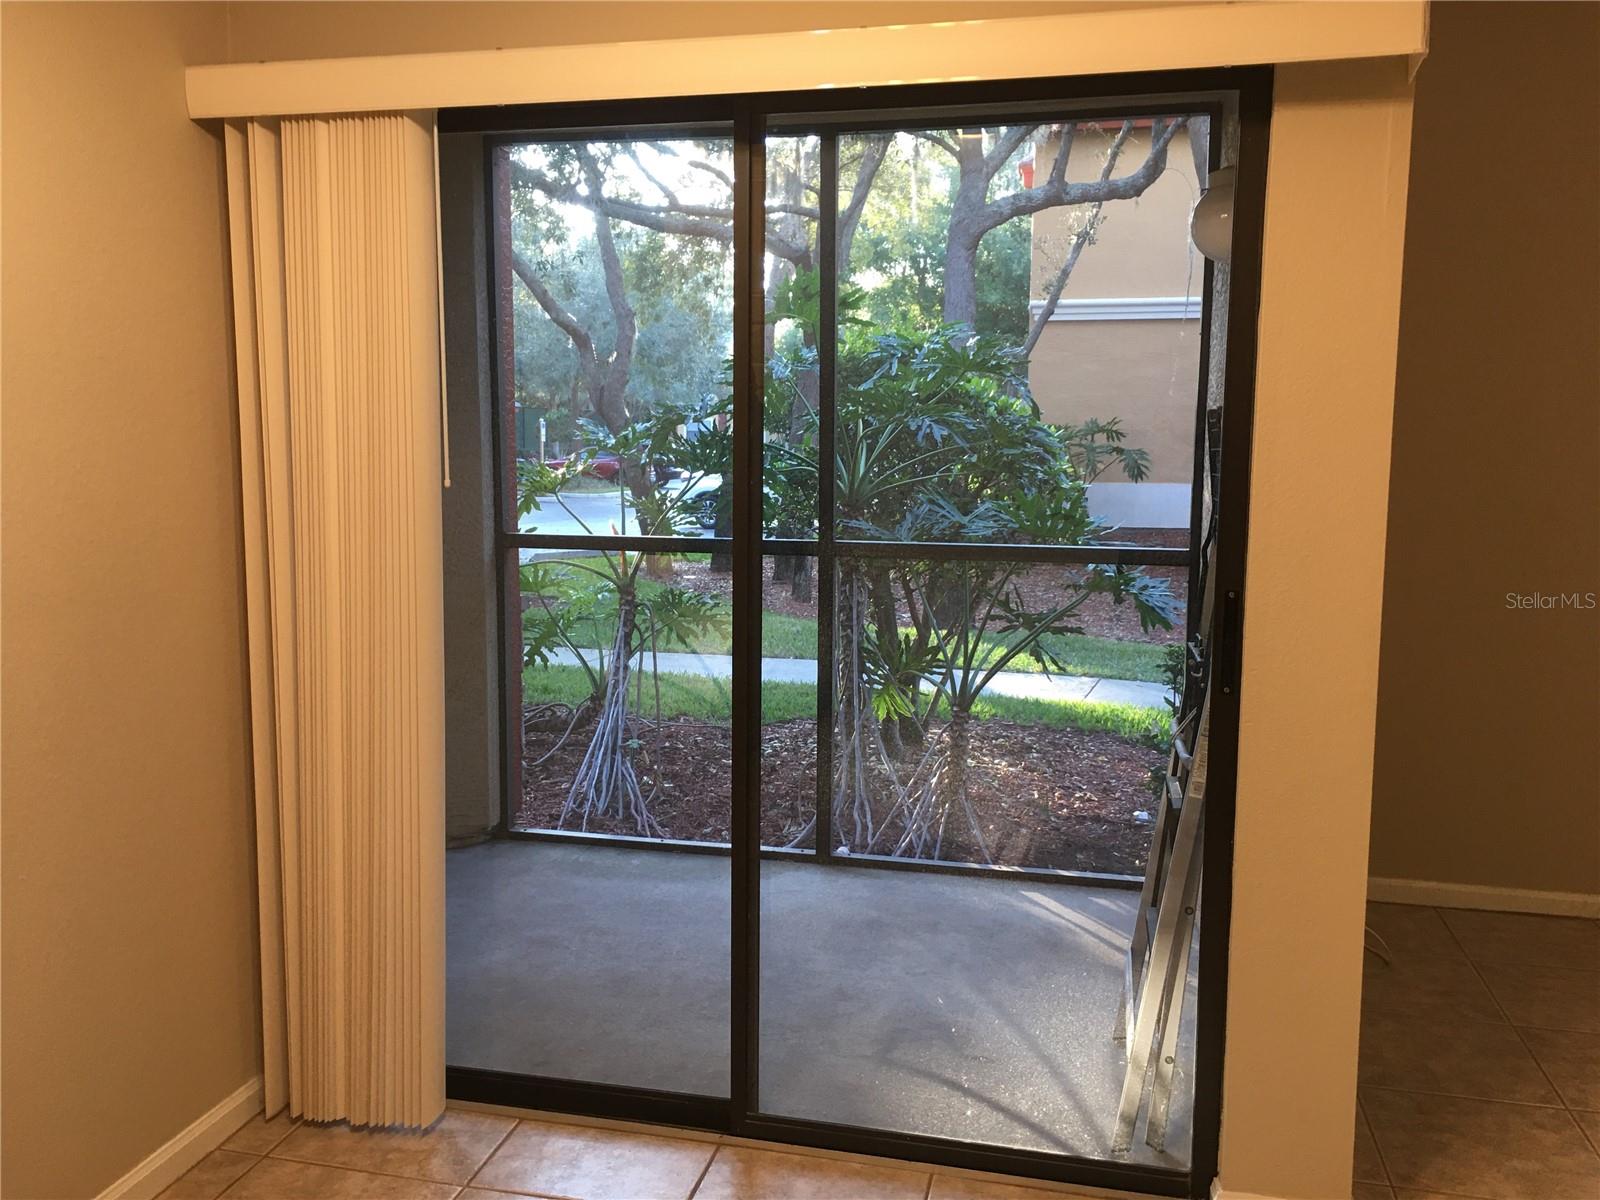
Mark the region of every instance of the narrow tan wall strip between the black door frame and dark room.
<instances>
[{"instance_id":1,"label":"narrow tan wall strip between the black door frame and dark room","mask_svg":"<svg viewBox=\"0 0 1600 1200\"><path fill-rule=\"evenodd\" d=\"M1237 1194L1350 1194L1410 123L1403 59L1277 72L1222 1088Z\"/></svg>"}]
</instances>

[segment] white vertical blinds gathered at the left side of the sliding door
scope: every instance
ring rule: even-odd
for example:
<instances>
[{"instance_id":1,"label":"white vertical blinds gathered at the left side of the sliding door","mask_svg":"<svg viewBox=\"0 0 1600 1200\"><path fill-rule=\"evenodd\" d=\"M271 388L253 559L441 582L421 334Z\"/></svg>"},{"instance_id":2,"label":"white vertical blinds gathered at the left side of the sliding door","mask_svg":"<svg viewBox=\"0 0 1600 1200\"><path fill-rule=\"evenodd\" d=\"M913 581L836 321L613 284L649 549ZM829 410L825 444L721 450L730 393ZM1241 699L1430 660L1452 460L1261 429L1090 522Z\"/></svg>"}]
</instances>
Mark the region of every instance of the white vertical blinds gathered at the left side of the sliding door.
<instances>
[{"instance_id":1,"label":"white vertical blinds gathered at the left side of the sliding door","mask_svg":"<svg viewBox=\"0 0 1600 1200\"><path fill-rule=\"evenodd\" d=\"M432 117L229 122L266 1107L443 1110Z\"/></svg>"}]
</instances>

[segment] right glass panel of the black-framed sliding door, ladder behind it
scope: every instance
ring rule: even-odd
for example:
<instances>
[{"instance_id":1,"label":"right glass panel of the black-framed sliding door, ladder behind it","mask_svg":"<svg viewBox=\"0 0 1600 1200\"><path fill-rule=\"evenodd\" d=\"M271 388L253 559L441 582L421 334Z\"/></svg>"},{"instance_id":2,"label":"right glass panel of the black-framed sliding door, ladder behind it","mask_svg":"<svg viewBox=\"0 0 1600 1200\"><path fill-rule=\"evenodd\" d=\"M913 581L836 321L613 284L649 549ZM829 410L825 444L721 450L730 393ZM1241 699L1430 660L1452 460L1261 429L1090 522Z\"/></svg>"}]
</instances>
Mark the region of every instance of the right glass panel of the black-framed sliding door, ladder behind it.
<instances>
[{"instance_id":1,"label":"right glass panel of the black-framed sliding door, ladder behind it","mask_svg":"<svg viewBox=\"0 0 1600 1200\"><path fill-rule=\"evenodd\" d=\"M766 138L770 205L816 206L819 242L766 254L763 552L826 626L810 720L763 712L763 747L806 742L763 792L819 763L782 827L814 853L760 869L763 1114L1110 1155L1186 629L1208 131L1163 107ZM763 677L810 619L776 574ZM1174 1168L1186 1011L1171 1133L1133 1155Z\"/></svg>"}]
</instances>

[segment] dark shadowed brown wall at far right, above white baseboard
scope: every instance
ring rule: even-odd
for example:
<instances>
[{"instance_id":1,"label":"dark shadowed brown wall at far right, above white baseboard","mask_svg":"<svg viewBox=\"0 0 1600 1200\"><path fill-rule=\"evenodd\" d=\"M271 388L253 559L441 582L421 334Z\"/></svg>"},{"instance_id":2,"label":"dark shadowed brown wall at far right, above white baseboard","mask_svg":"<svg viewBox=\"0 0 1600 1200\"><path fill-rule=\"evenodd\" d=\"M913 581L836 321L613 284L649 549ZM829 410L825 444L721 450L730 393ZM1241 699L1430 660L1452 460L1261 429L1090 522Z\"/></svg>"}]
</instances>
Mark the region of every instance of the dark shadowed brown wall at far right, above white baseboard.
<instances>
[{"instance_id":1,"label":"dark shadowed brown wall at far right, above white baseboard","mask_svg":"<svg viewBox=\"0 0 1600 1200\"><path fill-rule=\"evenodd\" d=\"M1445 3L1418 75L1374 875L1600 893L1600 6ZM1490 200L1493 178L1515 182ZM1490 210L1515 213L1504 238Z\"/></svg>"}]
</instances>

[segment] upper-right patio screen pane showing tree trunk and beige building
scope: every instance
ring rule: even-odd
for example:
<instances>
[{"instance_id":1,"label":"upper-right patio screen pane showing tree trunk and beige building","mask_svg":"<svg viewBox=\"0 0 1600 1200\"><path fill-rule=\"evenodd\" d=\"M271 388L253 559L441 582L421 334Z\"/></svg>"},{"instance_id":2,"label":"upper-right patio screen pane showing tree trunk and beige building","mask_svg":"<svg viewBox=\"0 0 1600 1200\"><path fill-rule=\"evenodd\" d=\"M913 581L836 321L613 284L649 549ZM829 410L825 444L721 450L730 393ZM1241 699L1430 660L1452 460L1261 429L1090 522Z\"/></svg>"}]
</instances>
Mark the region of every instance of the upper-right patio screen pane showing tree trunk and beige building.
<instances>
[{"instance_id":1,"label":"upper-right patio screen pane showing tree trunk and beige building","mask_svg":"<svg viewBox=\"0 0 1600 1200\"><path fill-rule=\"evenodd\" d=\"M1186 530L1197 195L1186 118L842 138L837 536Z\"/></svg>"}]
</instances>

